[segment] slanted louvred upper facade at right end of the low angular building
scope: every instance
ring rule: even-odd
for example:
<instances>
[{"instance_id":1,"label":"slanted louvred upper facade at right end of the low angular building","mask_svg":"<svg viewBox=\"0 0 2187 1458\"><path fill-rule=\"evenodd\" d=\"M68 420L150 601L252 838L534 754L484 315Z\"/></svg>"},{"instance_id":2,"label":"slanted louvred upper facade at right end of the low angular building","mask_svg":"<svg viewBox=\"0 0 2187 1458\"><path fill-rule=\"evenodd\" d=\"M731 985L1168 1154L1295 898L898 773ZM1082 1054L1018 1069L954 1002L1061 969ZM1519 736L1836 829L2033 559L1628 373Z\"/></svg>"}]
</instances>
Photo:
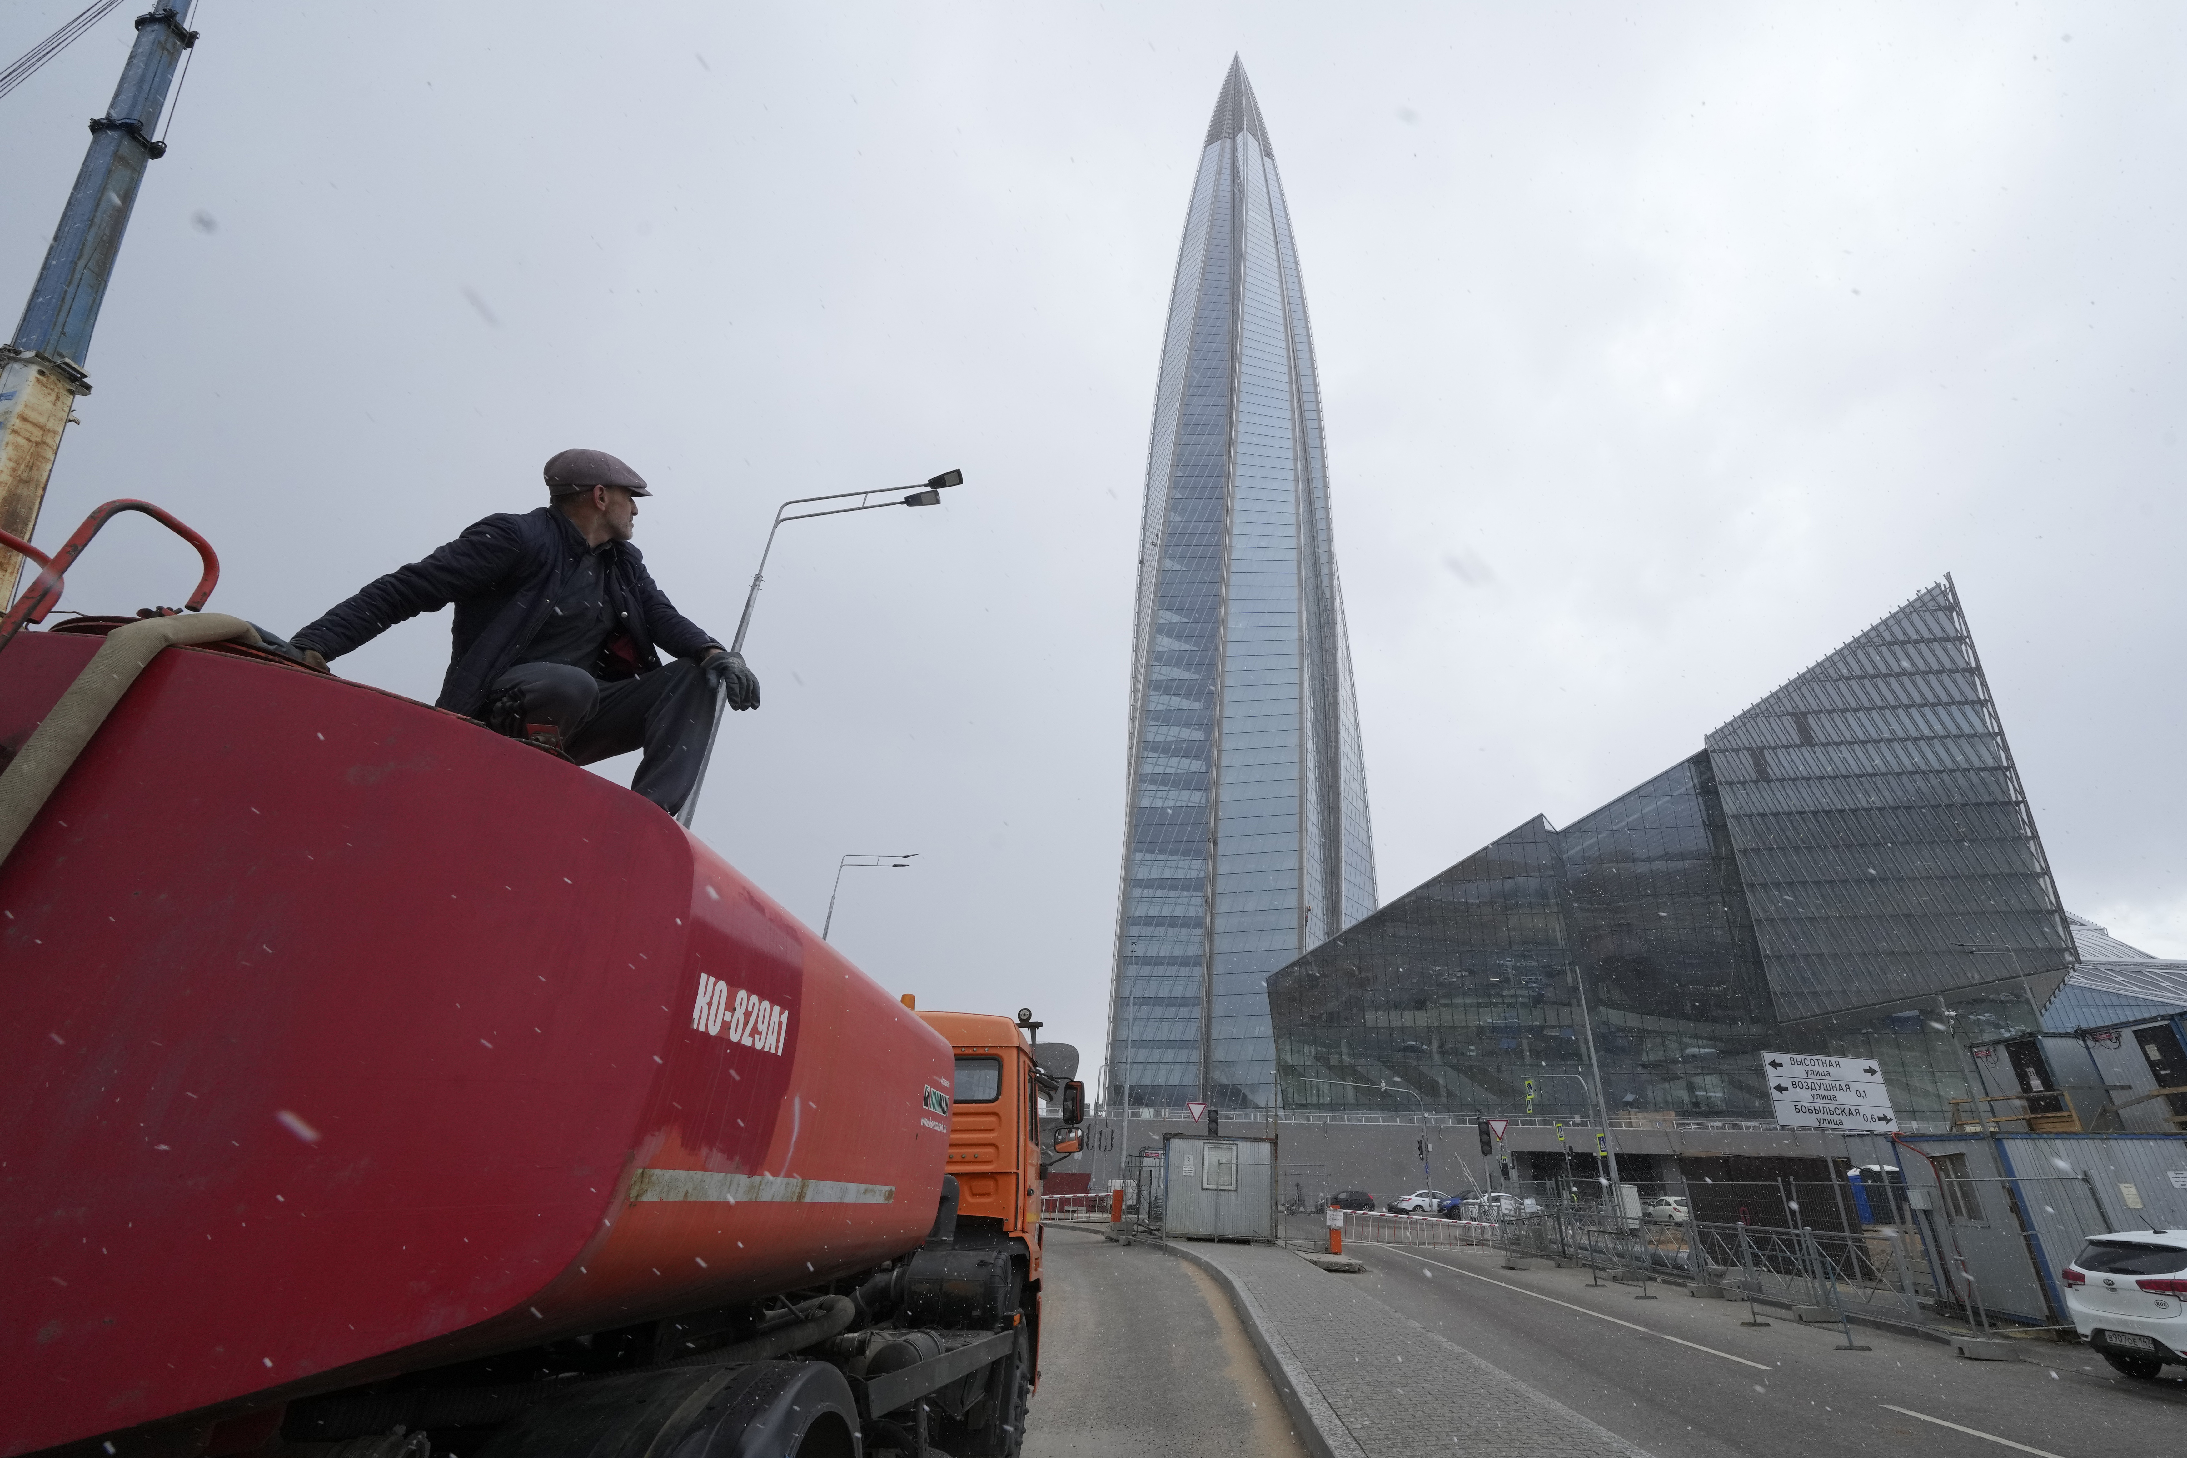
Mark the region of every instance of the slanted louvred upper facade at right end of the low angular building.
<instances>
[{"instance_id":1,"label":"slanted louvred upper facade at right end of the low angular building","mask_svg":"<svg viewBox=\"0 0 2187 1458\"><path fill-rule=\"evenodd\" d=\"M1780 1016L2073 964L1951 581L1706 743Z\"/></svg>"}]
</instances>

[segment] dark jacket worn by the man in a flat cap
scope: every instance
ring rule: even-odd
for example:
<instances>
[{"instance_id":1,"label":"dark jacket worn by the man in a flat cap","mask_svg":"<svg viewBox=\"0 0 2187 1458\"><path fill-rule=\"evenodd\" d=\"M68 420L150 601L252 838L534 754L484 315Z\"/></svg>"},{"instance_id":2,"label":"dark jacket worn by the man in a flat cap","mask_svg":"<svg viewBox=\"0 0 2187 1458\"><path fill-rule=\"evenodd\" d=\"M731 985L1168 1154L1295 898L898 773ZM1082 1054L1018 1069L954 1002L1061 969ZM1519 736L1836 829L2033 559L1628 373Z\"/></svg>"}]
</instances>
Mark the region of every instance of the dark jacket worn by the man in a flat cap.
<instances>
[{"instance_id":1,"label":"dark jacket worn by the man in a flat cap","mask_svg":"<svg viewBox=\"0 0 2187 1458\"><path fill-rule=\"evenodd\" d=\"M424 562L367 581L356 597L328 608L326 616L300 630L293 640L317 649L321 658L341 658L396 623L455 603L455 645L437 704L477 715L486 689L525 660L525 647L564 592L569 566L586 551L590 546L584 533L553 507L488 516L446 546L435 546ZM720 647L676 612L630 542L608 546L606 586L615 614L608 643L610 649L621 649L615 656L628 669L658 669L656 649L700 658Z\"/></svg>"}]
</instances>

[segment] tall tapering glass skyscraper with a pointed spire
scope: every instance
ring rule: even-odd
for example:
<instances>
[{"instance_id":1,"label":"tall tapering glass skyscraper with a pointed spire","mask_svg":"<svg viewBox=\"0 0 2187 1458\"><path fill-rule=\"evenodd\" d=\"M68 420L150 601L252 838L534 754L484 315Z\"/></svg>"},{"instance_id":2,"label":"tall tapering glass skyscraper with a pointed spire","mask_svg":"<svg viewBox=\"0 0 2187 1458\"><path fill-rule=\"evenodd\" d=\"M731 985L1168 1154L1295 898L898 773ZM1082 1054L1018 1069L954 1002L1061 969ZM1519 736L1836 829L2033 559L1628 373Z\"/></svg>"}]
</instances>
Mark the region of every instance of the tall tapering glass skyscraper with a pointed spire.
<instances>
[{"instance_id":1,"label":"tall tapering glass skyscraper with a pointed spire","mask_svg":"<svg viewBox=\"0 0 2187 1458\"><path fill-rule=\"evenodd\" d=\"M1104 1095L1262 1108L1268 973L1371 912L1376 890L1314 339L1238 61L1155 387L1128 791Z\"/></svg>"}]
</instances>

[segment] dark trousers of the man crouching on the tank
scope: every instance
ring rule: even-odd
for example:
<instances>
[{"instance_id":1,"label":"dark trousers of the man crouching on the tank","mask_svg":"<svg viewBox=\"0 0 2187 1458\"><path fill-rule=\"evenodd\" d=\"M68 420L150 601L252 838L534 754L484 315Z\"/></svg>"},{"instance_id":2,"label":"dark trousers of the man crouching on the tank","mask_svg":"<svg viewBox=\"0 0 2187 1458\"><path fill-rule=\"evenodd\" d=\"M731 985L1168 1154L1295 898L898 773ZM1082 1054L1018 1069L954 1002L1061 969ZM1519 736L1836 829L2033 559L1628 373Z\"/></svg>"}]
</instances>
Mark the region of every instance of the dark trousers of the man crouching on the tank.
<instances>
[{"instance_id":1,"label":"dark trousers of the man crouching on the tank","mask_svg":"<svg viewBox=\"0 0 2187 1458\"><path fill-rule=\"evenodd\" d=\"M713 689L689 658L615 680L566 662L521 662L494 680L494 693L503 689L523 689L525 724L558 726L562 752L580 765L645 750L630 787L669 815L691 798L713 734Z\"/></svg>"}]
</instances>

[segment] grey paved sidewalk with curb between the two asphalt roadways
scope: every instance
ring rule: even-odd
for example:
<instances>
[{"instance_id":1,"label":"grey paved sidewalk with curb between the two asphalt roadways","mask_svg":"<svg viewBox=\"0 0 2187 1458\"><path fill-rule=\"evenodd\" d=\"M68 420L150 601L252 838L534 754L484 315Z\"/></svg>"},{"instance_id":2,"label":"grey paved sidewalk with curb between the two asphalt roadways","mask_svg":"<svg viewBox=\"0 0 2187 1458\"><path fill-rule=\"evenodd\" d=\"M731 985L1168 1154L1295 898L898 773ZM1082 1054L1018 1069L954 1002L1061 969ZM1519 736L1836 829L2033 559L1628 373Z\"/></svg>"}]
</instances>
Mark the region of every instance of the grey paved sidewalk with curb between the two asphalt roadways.
<instances>
[{"instance_id":1,"label":"grey paved sidewalk with curb between the two asphalt roadways","mask_svg":"<svg viewBox=\"0 0 2187 1458\"><path fill-rule=\"evenodd\" d=\"M1295 1421L1328 1458L1492 1451L1500 1458L1649 1458L1282 1246L1168 1246L1238 1303Z\"/></svg>"}]
</instances>

